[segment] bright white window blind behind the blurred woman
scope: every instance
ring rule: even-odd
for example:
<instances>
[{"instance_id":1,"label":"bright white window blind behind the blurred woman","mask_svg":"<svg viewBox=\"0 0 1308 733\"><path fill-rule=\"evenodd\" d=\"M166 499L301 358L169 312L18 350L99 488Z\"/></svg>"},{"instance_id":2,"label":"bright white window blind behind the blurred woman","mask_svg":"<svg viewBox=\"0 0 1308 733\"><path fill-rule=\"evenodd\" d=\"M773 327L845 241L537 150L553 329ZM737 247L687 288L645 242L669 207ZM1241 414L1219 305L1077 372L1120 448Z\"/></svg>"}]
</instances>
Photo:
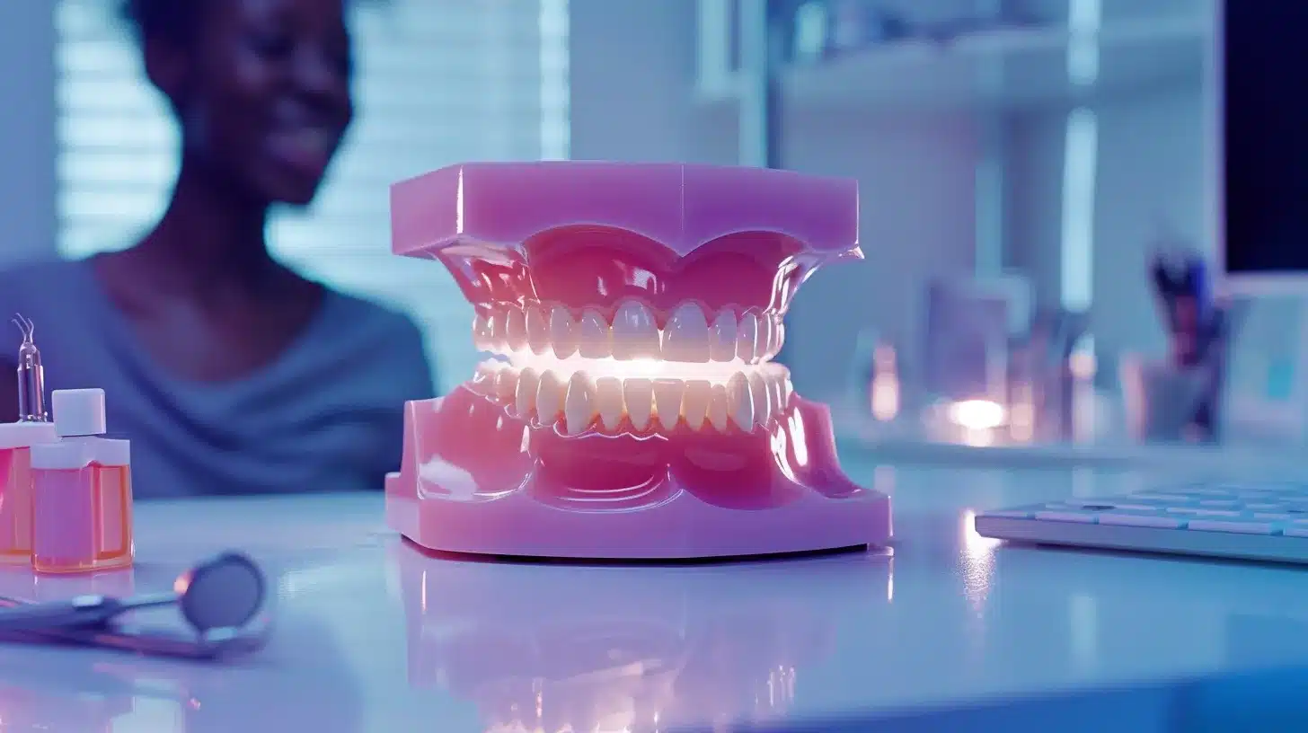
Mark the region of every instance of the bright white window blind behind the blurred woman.
<instances>
[{"instance_id":1,"label":"bright white window blind behind the blurred woman","mask_svg":"<svg viewBox=\"0 0 1308 733\"><path fill-rule=\"evenodd\" d=\"M162 212L177 130L110 0L58 0L64 257L133 243ZM390 254L388 186L460 161L568 157L568 0L390 0L353 8L358 116L314 206L279 212L275 254L409 313L439 389L472 374L472 308L442 266Z\"/></svg>"}]
</instances>

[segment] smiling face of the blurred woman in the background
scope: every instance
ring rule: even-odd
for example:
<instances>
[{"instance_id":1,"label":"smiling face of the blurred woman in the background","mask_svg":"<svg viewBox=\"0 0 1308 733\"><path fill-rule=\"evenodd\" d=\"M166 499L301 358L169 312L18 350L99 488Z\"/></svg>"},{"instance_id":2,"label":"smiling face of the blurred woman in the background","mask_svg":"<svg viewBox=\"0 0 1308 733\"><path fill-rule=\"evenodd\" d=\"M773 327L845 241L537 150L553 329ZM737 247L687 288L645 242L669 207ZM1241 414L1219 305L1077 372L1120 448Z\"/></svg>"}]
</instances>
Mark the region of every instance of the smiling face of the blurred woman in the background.
<instances>
[{"instance_id":1,"label":"smiling face of the blurred woman in the background","mask_svg":"<svg viewBox=\"0 0 1308 733\"><path fill-rule=\"evenodd\" d=\"M186 153L262 203L310 203L353 116L343 0L205 5L175 56Z\"/></svg>"}]
</instances>

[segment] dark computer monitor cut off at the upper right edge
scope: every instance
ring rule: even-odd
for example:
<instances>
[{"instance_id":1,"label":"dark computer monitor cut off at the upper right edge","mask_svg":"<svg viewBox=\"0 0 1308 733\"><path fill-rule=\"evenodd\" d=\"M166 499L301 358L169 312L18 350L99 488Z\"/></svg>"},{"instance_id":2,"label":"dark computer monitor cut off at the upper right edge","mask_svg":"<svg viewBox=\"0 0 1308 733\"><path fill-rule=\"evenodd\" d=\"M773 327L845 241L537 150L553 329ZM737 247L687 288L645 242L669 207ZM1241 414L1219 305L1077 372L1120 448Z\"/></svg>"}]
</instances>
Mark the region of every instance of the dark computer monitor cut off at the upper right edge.
<instances>
[{"instance_id":1,"label":"dark computer monitor cut off at the upper right edge","mask_svg":"<svg viewBox=\"0 0 1308 733\"><path fill-rule=\"evenodd\" d=\"M1308 3L1215 5L1207 211L1220 289L1308 295Z\"/></svg>"}]
</instances>

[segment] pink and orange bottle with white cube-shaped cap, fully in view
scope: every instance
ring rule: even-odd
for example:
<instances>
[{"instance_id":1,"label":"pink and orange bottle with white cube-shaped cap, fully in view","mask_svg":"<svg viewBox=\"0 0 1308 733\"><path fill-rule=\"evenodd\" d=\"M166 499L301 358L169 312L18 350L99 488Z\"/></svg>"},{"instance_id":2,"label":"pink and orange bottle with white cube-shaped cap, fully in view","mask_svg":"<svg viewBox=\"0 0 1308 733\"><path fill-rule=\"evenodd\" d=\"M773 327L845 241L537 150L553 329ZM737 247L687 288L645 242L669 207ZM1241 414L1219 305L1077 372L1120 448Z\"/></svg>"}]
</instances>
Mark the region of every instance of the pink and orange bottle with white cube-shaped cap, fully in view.
<instances>
[{"instance_id":1,"label":"pink and orange bottle with white cube-shaped cap, fully in view","mask_svg":"<svg viewBox=\"0 0 1308 733\"><path fill-rule=\"evenodd\" d=\"M59 440L31 448L33 569L131 565L131 442L103 437L105 390L55 390L51 407Z\"/></svg>"}]
</instances>

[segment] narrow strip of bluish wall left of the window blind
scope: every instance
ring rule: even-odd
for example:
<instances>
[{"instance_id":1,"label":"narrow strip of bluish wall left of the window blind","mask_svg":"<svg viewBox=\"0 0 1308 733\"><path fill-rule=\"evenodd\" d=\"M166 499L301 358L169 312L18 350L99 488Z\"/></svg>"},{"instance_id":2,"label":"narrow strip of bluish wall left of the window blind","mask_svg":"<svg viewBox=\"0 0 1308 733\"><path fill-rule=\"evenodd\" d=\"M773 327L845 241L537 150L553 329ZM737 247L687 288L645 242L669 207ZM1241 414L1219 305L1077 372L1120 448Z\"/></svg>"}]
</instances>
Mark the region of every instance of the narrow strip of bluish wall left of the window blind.
<instances>
[{"instance_id":1,"label":"narrow strip of bluish wall left of the window blind","mask_svg":"<svg viewBox=\"0 0 1308 733\"><path fill-rule=\"evenodd\" d=\"M52 3L0 3L0 266L55 251Z\"/></svg>"}]
</instances>

